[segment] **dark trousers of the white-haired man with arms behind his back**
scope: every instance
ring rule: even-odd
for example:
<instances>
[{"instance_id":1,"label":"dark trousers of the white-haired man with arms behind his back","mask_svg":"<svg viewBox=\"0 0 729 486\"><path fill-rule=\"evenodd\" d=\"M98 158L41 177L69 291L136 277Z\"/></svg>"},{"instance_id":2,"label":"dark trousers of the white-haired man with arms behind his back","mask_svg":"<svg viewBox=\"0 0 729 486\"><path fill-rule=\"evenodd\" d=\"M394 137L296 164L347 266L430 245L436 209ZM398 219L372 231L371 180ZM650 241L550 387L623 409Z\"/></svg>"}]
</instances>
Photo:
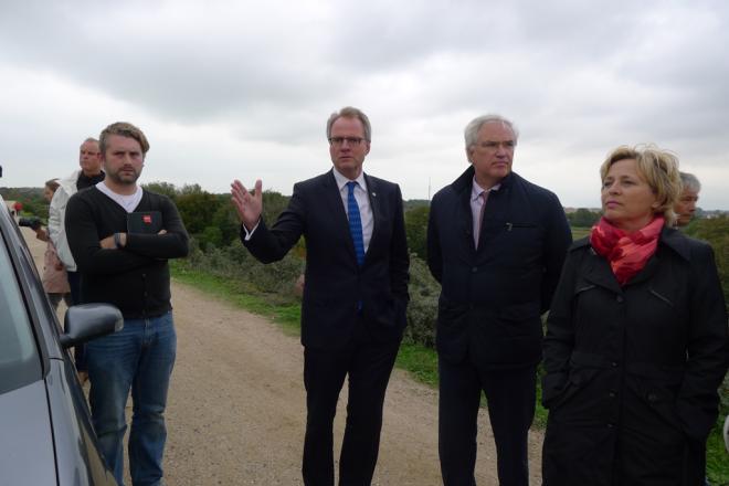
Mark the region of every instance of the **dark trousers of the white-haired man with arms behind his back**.
<instances>
[{"instance_id":1,"label":"dark trousers of the white-haired man with arms behind his back","mask_svg":"<svg viewBox=\"0 0 729 486\"><path fill-rule=\"evenodd\" d=\"M500 486L527 486L527 433L535 415L536 368L488 369L468 358L439 358L439 453L445 486L476 484L476 434L480 392L496 442Z\"/></svg>"}]
</instances>

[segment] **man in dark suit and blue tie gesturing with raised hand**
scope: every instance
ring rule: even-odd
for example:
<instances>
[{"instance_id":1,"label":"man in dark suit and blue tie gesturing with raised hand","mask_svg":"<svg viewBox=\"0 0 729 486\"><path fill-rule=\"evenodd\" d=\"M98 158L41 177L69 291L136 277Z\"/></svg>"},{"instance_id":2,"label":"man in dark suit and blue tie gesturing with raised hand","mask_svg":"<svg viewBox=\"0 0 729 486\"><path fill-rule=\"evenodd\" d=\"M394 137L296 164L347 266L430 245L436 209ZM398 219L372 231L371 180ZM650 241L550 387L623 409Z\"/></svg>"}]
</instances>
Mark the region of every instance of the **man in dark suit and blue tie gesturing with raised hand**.
<instances>
[{"instance_id":1,"label":"man in dark suit and blue tie gesturing with raised hand","mask_svg":"<svg viewBox=\"0 0 729 486\"><path fill-rule=\"evenodd\" d=\"M369 485L380 445L382 404L405 326L408 268L400 188L362 172L370 151L367 116L331 115L327 139L334 169L298 182L288 208L268 229L262 183L232 184L241 240L261 262L284 257L306 240L302 304L306 485L334 485L332 423L349 376L339 485Z\"/></svg>"}]
</instances>

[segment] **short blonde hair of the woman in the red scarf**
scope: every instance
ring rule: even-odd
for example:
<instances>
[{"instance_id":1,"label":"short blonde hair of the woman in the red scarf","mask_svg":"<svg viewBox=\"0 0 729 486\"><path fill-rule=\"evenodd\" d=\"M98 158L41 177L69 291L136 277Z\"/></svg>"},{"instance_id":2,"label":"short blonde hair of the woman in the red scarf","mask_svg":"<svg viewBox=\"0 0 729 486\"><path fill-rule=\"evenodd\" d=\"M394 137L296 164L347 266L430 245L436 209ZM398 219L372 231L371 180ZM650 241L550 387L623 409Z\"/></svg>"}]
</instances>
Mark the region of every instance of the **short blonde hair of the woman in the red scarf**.
<instances>
[{"instance_id":1,"label":"short blonde hair of the woman in the red scarf","mask_svg":"<svg viewBox=\"0 0 729 486\"><path fill-rule=\"evenodd\" d=\"M665 224L672 226L676 221L674 204L678 201L682 191L678 157L655 145L621 146L610 152L600 166L601 180L605 180L613 163L627 159L635 160L638 175L648 183L656 196L659 205L656 208L655 213L663 215L666 220Z\"/></svg>"}]
</instances>

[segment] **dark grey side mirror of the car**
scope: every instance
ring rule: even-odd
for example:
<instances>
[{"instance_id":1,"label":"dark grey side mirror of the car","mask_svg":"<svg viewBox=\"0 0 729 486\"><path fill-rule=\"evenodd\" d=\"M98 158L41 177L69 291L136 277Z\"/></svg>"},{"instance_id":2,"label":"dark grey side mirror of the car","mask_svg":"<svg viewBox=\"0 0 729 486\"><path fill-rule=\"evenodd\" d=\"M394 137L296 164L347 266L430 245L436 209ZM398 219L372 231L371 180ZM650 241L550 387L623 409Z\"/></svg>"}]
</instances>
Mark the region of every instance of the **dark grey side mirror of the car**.
<instances>
[{"instance_id":1,"label":"dark grey side mirror of the car","mask_svg":"<svg viewBox=\"0 0 729 486\"><path fill-rule=\"evenodd\" d=\"M124 328L122 313L109 304L82 304L68 307L64 323L66 331L61 334L60 339L64 349Z\"/></svg>"}]
</instances>

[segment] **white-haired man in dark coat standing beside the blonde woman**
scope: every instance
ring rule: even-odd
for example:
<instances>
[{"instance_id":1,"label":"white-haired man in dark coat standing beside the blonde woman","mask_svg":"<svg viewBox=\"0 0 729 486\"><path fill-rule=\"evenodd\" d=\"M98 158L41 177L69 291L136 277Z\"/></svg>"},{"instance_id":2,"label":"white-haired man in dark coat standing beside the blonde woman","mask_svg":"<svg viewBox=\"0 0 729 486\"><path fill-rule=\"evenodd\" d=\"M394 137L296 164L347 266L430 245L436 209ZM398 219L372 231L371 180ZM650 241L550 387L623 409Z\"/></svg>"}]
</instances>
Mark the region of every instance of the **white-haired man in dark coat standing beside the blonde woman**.
<instances>
[{"instance_id":1,"label":"white-haired man in dark coat standing beside the blonde woman","mask_svg":"<svg viewBox=\"0 0 729 486\"><path fill-rule=\"evenodd\" d=\"M528 485L527 432L548 310L572 242L557 196L511 172L514 125L466 126L471 167L431 204L427 264L441 285L439 452L445 486L475 485L480 392L501 486Z\"/></svg>"}]
</instances>

